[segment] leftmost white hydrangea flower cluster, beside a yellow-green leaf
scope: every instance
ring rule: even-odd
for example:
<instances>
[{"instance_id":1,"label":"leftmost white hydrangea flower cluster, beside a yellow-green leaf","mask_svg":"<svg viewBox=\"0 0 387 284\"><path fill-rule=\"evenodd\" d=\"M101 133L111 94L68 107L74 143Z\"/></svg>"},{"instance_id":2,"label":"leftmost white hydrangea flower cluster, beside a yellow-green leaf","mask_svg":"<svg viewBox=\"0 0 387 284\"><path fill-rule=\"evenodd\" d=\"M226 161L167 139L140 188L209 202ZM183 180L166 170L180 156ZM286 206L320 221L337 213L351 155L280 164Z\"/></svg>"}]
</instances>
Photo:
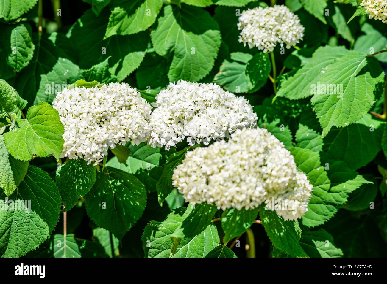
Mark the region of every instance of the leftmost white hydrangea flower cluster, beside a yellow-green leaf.
<instances>
[{"instance_id":1,"label":"leftmost white hydrangea flower cluster, beside a yellow-green leaf","mask_svg":"<svg viewBox=\"0 0 387 284\"><path fill-rule=\"evenodd\" d=\"M65 127L60 157L82 158L94 165L115 144L140 144L149 136L152 107L126 83L64 89L53 101Z\"/></svg>"}]
</instances>

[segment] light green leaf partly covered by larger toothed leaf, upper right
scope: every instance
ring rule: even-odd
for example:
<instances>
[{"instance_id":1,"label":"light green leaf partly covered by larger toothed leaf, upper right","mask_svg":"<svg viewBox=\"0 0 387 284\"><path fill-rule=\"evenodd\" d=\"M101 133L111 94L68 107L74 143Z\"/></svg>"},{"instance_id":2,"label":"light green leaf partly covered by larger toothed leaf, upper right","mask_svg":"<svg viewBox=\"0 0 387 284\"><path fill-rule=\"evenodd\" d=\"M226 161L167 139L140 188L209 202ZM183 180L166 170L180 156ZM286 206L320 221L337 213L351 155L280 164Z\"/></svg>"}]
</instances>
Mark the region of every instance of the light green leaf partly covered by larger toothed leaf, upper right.
<instances>
[{"instance_id":1,"label":"light green leaf partly covered by larger toothed leaf, upper right","mask_svg":"<svg viewBox=\"0 0 387 284\"><path fill-rule=\"evenodd\" d=\"M312 56L310 63L299 69L293 76L281 83L277 96L284 96L291 100L307 98L313 95L312 83L321 81L319 79L330 64L347 54L345 47L319 47ZM321 81L322 82L322 81ZM325 82L324 82L325 83Z\"/></svg>"}]
</instances>

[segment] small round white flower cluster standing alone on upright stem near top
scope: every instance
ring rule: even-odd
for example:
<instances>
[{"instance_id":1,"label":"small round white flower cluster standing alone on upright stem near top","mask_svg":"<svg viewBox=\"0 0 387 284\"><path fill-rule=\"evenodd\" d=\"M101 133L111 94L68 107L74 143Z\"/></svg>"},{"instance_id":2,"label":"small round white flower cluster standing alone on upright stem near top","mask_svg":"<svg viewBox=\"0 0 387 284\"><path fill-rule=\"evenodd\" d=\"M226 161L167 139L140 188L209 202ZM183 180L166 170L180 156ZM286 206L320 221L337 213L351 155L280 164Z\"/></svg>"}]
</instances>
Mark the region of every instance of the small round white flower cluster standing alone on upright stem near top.
<instances>
[{"instance_id":1,"label":"small round white flower cluster standing alone on upright stem near top","mask_svg":"<svg viewBox=\"0 0 387 284\"><path fill-rule=\"evenodd\" d=\"M277 43L286 44L286 48L295 46L302 40L305 30L298 16L285 5L243 11L238 29L241 30L239 42L264 52L273 51Z\"/></svg>"}]
</instances>

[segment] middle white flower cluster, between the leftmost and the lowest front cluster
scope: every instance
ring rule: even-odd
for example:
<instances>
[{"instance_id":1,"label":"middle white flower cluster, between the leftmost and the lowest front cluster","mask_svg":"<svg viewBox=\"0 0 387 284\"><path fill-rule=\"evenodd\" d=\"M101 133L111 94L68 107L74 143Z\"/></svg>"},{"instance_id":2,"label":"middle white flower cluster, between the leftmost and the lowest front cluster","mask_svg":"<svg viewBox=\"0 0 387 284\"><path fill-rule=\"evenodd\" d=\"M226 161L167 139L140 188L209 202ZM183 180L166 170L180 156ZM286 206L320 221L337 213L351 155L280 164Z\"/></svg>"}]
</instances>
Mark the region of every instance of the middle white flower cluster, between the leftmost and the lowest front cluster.
<instances>
[{"instance_id":1,"label":"middle white flower cluster, between the leftmost and the lowest front cluster","mask_svg":"<svg viewBox=\"0 0 387 284\"><path fill-rule=\"evenodd\" d=\"M176 147L185 140L189 145L220 140L240 128L257 125L257 115L243 97L223 90L218 85L179 80L161 90L152 103L149 120L152 147Z\"/></svg>"}]
</instances>

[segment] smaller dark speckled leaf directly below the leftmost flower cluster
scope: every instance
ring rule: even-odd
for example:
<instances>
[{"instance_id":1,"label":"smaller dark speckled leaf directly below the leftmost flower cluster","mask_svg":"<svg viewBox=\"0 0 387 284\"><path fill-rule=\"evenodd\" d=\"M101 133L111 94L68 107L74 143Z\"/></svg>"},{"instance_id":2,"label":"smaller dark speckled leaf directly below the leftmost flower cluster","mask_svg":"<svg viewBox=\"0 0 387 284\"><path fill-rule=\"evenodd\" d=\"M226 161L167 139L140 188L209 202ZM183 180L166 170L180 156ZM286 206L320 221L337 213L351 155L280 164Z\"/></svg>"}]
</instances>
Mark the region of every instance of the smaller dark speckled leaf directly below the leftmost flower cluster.
<instances>
[{"instance_id":1,"label":"smaller dark speckled leaf directly below the leftmost flower cluster","mask_svg":"<svg viewBox=\"0 0 387 284\"><path fill-rule=\"evenodd\" d=\"M63 211L73 208L78 199L89 192L95 180L95 167L84 159L72 159L63 164L55 180L65 206Z\"/></svg>"}]
</instances>

